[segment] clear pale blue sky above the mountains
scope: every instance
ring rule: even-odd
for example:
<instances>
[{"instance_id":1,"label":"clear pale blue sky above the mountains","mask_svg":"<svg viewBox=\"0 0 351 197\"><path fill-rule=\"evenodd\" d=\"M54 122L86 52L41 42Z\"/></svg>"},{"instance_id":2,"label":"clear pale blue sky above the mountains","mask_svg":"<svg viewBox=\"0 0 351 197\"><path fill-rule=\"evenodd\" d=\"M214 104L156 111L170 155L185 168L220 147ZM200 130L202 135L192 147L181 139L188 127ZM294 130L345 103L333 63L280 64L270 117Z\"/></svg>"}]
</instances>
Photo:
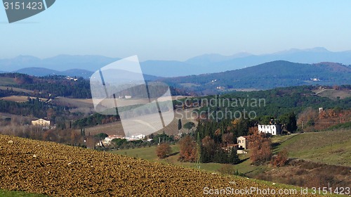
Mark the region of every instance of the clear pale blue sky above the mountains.
<instances>
[{"instance_id":1,"label":"clear pale blue sky above the mountains","mask_svg":"<svg viewBox=\"0 0 351 197\"><path fill-rule=\"evenodd\" d=\"M323 46L351 49L351 1L56 0L8 24L0 9L0 58L58 54L141 61L204 53L254 54Z\"/></svg>"}]
</instances>

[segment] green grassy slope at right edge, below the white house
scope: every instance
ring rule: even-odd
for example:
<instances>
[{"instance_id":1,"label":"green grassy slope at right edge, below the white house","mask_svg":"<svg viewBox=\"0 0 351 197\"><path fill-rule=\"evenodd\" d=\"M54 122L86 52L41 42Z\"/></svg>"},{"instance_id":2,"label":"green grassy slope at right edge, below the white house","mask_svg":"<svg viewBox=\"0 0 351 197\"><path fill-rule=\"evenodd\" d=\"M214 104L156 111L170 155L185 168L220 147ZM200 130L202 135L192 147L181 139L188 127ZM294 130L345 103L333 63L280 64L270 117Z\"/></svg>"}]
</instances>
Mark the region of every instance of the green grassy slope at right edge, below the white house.
<instances>
[{"instance_id":1,"label":"green grassy slope at right edge, below the white house","mask_svg":"<svg viewBox=\"0 0 351 197\"><path fill-rule=\"evenodd\" d=\"M286 148L289 158L301 158L331 165L351 166L351 130L298 134L274 151Z\"/></svg>"}]
</instances>

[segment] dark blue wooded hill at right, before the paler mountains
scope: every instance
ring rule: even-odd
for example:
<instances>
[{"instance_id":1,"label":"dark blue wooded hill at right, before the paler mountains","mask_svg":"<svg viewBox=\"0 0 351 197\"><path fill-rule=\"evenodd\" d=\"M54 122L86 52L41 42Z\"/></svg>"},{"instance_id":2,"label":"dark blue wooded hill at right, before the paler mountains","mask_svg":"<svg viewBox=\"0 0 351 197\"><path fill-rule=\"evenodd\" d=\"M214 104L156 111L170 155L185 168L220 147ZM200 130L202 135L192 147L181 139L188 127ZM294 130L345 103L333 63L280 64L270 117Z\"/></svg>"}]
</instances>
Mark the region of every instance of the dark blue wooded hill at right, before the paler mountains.
<instances>
[{"instance_id":1,"label":"dark blue wooded hill at right, before the paler mountains","mask_svg":"<svg viewBox=\"0 0 351 197\"><path fill-rule=\"evenodd\" d=\"M351 84L351 66L340 63L272 61L248 68L211 74L162 79L173 87L197 94L217 94L236 89L272 89L309 84Z\"/></svg>"}]
</instances>

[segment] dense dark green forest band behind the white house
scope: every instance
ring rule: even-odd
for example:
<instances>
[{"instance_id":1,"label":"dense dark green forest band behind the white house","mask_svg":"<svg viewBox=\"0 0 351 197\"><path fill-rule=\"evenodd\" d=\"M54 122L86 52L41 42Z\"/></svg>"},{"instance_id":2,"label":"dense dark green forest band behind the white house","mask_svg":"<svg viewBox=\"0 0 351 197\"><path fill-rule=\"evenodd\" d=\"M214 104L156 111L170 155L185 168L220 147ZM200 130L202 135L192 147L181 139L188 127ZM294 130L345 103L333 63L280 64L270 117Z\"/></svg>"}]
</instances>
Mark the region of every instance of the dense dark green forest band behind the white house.
<instances>
[{"instance_id":1,"label":"dense dark green forest band behind the white house","mask_svg":"<svg viewBox=\"0 0 351 197\"><path fill-rule=\"evenodd\" d=\"M350 89L350 86L340 86ZM234 91L231 94L187 98L175 103L176 106L190 106L199 103L194 113L208 119L221 120L234 117L279 117L286 113L298 114L307 107L350 109L351 98L336 99L317 96L313 86L284 87L265 91ZM224 116L224 117L223 117Z\"/></svg>"}]
</instances>

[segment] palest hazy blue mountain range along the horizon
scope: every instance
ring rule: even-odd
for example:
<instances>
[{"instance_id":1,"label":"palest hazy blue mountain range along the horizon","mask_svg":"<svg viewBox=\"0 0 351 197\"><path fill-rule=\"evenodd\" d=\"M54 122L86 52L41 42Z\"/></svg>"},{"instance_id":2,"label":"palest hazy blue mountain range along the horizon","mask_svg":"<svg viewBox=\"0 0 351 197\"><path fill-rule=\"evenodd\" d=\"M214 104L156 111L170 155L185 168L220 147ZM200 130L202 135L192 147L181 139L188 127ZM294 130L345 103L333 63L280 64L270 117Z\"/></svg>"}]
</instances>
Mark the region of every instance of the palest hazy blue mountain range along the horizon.
<instances>
[{"instance_id":1,"label":"palest hazy blue mountain range along the horizon","mask_svg":"<svg viewBox=\"0 0 351 197\"><path fill-rule=\"evenodd\" d=\"M0 70L37 76L57 74L89 77L91 73L99 68L119 59L105 56L60 55L44 59L33 56L18 56L11 59L0 59ZM140 65L147 75L177 77L237 70L270 61L335 62L351 65L351 51L332 52L319 47L304 50L290 49L289 51L265 55L253 55L251 53L237 53L232 56L206 54L190 58L187 61L144 61Z\"/></svg>"}]
</instances>

